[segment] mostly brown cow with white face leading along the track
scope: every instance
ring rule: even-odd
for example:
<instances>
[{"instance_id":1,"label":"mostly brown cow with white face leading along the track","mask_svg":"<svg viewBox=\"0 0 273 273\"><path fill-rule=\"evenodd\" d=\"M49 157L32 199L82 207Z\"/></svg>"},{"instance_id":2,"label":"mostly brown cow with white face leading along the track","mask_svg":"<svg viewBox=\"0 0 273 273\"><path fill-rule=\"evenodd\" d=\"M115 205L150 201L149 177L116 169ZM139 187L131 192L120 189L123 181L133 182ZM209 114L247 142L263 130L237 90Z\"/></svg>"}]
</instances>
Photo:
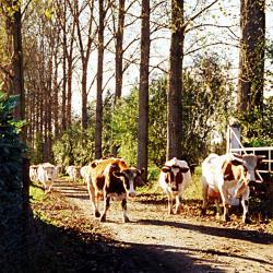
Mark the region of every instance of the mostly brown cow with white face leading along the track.
<instances>
[{"instance_id":1,"label":"mostly brown cow with white face leading along the track","mask_svg":"<svg viewBox=\"0 0 273 273\"><path fill-rule=\"evenodd\" d=\"M135 195L134 187L143 171L144 169L129 168L122 158L111 157L91 163L88 175L85 177L95 217L100 217L100 222L106 222L110 200L118 200L121 201L123 222L130 222L127 216L127 198ZM104 200L102 215L98 211L99 199Z\"/></svg>"}]
</instances>

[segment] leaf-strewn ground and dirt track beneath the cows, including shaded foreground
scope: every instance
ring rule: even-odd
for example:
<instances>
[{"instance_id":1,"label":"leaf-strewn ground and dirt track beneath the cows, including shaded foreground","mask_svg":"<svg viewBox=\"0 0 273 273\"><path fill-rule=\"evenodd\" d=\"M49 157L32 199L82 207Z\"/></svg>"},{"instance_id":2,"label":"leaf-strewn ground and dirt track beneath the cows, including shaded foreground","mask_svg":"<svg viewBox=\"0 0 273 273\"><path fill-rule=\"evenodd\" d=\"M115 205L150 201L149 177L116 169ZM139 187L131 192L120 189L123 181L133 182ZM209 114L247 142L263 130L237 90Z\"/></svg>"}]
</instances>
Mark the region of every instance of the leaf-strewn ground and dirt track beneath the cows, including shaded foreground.
<instances>
[{"instance_id":1,"label":"leaf-strewn ground and dirt track beneath the cows, including shaded foreground","mask_svg":"<svg viewBox=\"0 0 273 273\"><path fill-rule=\"evenodd\" d=\"M122 223L115 201L107 222L99 223L86 187L61 180L49 195L52 205L33 207L56 221L61 217L61 235L43 235L58 262L34 272L273 272L273 234L264 223L201 217L200 201L187 201L179 215L168 215L164 195L149 193L128 201L130 223Z\"/></svg>"}]
</instances>

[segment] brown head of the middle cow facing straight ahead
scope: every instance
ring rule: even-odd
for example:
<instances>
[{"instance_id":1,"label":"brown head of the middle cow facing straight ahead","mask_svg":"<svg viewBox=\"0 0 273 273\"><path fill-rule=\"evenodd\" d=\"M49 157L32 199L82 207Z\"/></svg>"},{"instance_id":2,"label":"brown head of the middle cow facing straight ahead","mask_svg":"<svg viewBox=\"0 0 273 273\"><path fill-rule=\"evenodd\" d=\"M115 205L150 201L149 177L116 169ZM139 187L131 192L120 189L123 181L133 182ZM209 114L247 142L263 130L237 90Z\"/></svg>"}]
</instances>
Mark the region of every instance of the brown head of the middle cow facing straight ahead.
<instances>
[{"instance_id":1,"label":"brown head of the middle cow facing straight ahead","mask_svg":"<svg viewBox=\"0 0 273 273\"><path fill-rule=\"evenodd\" d=\"M179 191L180 186L183 181L183 174L189 170L188 167L179 167L179 166L164 166L162 171L166 174L166 183L169 185L173 193L177 193Z\"/></svg>"}]
</instances>

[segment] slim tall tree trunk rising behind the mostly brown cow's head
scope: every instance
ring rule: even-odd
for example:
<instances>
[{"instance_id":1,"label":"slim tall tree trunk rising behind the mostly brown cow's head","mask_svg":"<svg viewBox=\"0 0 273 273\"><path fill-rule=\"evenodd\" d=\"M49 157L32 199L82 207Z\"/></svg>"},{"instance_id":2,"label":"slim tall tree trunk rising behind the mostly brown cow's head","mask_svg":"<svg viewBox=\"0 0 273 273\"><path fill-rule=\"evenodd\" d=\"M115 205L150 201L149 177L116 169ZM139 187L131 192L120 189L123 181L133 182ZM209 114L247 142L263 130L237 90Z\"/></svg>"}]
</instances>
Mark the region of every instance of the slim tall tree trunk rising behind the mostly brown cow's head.
<instances>
[{"instance_id":1,"label":"slim tall tree trunk rising behind the mostly brown cow's head","mask_svg":"<svg viewBox=\"0 0 273 273\"><path fill-rule=\"evenodd\" d=\"M150 0L142 0L138 168L145 168L145 169L147 169L147 146L149 146L150 44L151 44L151 38L150 38ZM145 171L145 174L146 174L146 171Z\"/></svg>"}]
</instances>

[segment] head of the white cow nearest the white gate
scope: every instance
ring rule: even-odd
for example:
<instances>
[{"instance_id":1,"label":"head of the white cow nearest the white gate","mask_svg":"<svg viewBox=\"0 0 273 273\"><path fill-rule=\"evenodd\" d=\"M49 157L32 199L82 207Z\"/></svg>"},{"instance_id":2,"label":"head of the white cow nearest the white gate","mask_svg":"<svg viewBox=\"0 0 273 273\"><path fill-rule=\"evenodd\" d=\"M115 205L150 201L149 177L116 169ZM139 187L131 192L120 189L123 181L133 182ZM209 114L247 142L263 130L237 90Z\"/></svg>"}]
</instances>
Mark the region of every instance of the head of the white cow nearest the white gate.
<instances>
[{"instance_id":1,"label":"head of the white cow nearest the white gate","mask_svg":"<svg viewBox=\"0 0 273 273\"><path fill-rule=\"evenodd\" d=\"M262 161L262 156L253 154L234 154L230 159L233 175L236 180L241 180L246 185L256 181L256 169Z\"/></svg>"}]
</instances>

